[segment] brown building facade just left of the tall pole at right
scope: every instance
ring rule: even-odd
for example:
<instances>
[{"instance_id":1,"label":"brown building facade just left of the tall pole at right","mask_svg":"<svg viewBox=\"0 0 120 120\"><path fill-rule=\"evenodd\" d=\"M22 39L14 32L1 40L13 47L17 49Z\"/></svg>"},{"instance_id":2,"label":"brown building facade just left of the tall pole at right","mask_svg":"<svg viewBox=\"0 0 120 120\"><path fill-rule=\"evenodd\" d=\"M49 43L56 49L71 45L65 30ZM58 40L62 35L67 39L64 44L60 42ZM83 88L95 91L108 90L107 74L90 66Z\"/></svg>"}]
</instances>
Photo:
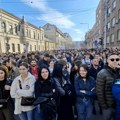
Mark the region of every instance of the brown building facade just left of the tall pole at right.
<instances>
[{"instance_id":1,"label":"brown building facade just left of the tall pole at right","mask_svg":"<svg viewBox=\"0 0 120 120\"><path fill-rule=\"evenodd\" d=\"M102 42L104 38L104 5L105 0L101 0L96 9L96 22L93 25L92 29L89 30L85 35L85 41L87 48L98 48L102 47Z\"/></svg>"}]
</instances>

